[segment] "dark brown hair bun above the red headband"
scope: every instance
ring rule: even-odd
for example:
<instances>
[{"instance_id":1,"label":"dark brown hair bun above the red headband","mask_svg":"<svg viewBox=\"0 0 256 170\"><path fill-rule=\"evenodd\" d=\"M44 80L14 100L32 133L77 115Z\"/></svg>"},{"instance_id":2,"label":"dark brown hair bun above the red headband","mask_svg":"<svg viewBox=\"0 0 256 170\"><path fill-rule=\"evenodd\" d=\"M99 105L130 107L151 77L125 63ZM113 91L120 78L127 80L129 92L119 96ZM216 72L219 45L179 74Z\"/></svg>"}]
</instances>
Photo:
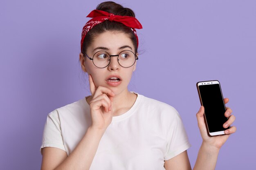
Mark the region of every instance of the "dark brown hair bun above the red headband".
<instances>
[{"instance_id":1,"label":"dark brown hair bun above the red headband","mask_svg":"<svg viewBox=\"0 0 256 170\"><path fill-rule=\"evenodd\" d=\"M96 9L113 13L114 15L135 17L135 13L130 8L124 8L122 5L112 1L102 2Z\"/></svg>"}]
</instances>

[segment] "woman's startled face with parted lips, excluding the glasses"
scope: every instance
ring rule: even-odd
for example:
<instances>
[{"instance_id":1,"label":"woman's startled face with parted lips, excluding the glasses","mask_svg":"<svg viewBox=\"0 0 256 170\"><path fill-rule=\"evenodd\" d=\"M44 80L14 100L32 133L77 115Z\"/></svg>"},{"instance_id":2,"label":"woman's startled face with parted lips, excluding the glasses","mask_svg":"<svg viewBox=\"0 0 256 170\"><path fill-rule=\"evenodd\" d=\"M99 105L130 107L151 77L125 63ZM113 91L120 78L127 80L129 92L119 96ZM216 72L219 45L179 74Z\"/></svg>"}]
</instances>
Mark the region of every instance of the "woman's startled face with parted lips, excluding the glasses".
<instances>
[{"instance_id":1,"label":"woman's startled face with parted lips, excluding the glasses","mask_svg":"<svg viewBox=\"0 0 256 170\"><path fill-rule=\"evenodd\" d=\"M124 50L130 50L135 53L135 47L127 34L110 31L97 35L92 44L88 46L86 54L92 58L97 51L101 50L108 52L110 55L118 55ZM117 56L112 56L107 67L98 68L93 64L92 60L89 60L86 56L83 58L81 55L83 54L80 53L83 71L92 75L96 87L104 86L110 88L115 95L128 92L127 86L132 77L132 72L135 71L136 62L131 67L124 68L118 63ZM110 79L111 77L112 79ZM119 79L113 79L113 77Z\"/></svg>"}]
</instances>

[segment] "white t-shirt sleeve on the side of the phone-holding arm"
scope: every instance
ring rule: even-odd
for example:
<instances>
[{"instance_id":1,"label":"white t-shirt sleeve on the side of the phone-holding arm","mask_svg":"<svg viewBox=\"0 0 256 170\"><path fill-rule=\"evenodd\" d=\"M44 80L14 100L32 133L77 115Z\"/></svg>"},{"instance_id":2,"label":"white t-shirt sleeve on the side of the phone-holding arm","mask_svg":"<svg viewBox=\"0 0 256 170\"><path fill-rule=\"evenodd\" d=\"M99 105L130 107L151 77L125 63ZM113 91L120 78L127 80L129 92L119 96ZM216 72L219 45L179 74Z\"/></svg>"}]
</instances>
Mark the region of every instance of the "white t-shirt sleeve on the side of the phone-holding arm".
<instances>
[{"instance_id":1,"label":"white t-shirt sleeve on the side of the phone-holding arm","mask_svg":"<svg viewBox=\"0 0 256 170\"><path fill-rule=\"evenodd\" d=\"M170 118L171 121L169 121L170 123L167 126L168 129L166 133L167 145L166 154L164 156L165 161L179 155L191 146L182 119L175 108L173 108L171 115L172 118Z\"/></svg>"}]
</instances>

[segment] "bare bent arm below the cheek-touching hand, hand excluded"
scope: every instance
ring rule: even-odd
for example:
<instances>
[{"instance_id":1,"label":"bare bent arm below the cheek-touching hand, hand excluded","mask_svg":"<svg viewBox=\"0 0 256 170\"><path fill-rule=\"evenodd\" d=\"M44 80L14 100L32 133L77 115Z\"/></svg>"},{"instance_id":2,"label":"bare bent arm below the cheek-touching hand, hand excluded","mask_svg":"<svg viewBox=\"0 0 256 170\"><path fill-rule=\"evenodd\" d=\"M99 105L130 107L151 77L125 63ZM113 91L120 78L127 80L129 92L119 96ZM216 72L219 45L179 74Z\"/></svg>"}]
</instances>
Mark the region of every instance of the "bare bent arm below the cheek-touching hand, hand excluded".
<instances>
[{"instance_id":1,"label":"bare bent arm below the cheek-touching hand, hand excluded","mask_svg":"<svg viewBox=\"0 0 256 170\"><path fill-rule=\"evenodd\" d=\"M89 170L104 132L105 130L88 128L84 137L68 157L64 150L52 147L43 148L41 170Z\"/></svg>"}]
</instances>

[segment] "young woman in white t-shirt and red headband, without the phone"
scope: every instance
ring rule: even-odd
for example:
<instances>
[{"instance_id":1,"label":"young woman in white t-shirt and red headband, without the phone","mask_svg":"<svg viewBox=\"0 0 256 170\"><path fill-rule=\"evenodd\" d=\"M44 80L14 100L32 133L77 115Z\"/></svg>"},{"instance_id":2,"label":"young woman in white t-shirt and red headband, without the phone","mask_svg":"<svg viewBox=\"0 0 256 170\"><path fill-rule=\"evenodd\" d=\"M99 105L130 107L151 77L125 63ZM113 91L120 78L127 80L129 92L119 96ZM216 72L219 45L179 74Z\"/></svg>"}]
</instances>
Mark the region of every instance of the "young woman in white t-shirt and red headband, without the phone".
<instances>
[{"instance_id":1,"label":"young woman in white t-shirt and red headband, without the phone","mask_svg":"<svg viewBox=\"0 0 256 170\"><path fill-rule=\"evenodd\" d=\"M92 95L49 113L41 169L191 170L190 144L177 111L128 91L138 59L135 29L142 28L134 12L103 2L88 17L79 59ZM235 120L231 113L227 108L225 128ZM213 170L221 146L236 128L209 137L203 114L200 107L196 117L203 142L194 170Z\"/></svg>"}]
</instances>

